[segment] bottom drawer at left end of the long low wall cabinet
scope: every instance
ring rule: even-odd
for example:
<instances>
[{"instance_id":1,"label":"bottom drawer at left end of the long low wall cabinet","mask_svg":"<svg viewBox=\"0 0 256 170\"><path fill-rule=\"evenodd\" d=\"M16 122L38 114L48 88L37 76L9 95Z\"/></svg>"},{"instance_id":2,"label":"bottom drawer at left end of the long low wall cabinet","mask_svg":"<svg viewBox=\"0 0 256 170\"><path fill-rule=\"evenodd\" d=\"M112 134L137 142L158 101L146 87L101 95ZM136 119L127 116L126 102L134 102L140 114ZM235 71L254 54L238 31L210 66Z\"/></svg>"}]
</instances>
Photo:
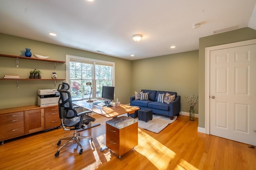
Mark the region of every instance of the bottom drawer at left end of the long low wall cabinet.
<instances>
[{"instance_id":1,"label":"bottom drawer at left end of the long low wall cabinet","mask_svg":"<svg viewBox=\"0 0 256 170\"><path fill-rule=\"evenodd\" d=\"M0 125L0 140L11 139L24 135L24 121Z\"/></svg>"}]
</instances>

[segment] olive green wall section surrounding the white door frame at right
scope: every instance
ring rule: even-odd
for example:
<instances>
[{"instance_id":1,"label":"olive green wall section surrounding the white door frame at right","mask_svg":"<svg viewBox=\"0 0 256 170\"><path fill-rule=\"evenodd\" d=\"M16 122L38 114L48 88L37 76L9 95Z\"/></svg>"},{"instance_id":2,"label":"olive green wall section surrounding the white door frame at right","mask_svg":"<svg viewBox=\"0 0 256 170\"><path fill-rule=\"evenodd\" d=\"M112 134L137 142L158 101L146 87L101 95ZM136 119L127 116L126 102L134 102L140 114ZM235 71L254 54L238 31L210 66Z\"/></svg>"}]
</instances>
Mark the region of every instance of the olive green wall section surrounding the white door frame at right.
<instances>
[{"instance_id":1,"label":"olive green wall section surrounding the white door frame at right","mask_svg":"<svg viewBox=\"0 0 256 170\"><path fill-rule=\"evenodd\" d=\"M239 41L246 41L250 39L256 39L256 30L245 27L219 33L216 35L210 35L208 37L202 37L199 39L199 122L198 127L205 128L205 48L216 45L223 45L228 43L235 43Z\"/></svg>"}]
</instances>

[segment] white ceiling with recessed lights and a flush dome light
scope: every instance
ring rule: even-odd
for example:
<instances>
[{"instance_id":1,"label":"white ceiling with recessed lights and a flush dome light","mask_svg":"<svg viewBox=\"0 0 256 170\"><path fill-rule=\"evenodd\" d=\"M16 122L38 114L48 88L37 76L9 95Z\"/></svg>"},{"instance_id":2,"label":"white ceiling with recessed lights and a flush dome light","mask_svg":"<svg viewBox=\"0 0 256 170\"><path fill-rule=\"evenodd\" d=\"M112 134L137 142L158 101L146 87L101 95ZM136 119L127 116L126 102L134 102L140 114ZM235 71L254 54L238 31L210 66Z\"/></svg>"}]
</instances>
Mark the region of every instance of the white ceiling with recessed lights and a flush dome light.
<instances>
[{"instance_id":1,"label":"white ceiling with recessed lights and a flush dome light","mask_svg":"<svg viewBox=\"0 0 256 170\"><path fill-rule=\"evenodd\" d=\"M256 0L0 0L0 32L137 60L197 50L214 30L256 29L255 8Z\"/></svg>"}]
</instances>

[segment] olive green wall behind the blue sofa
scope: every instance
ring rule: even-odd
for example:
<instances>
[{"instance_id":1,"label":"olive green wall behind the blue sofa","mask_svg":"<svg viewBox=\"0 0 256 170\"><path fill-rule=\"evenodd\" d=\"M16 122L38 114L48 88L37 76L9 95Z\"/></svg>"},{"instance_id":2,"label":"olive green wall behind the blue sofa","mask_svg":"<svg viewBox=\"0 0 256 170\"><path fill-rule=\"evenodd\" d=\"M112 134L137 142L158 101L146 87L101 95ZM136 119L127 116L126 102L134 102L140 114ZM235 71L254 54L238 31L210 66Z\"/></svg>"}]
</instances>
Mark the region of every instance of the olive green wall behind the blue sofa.
<instances>
[{"instance_id":1,"label":"olive green wall behind the blue sofa","mask_svg":"<svg viewBox=\"0 0 256 170\"><path fill-rule=\"evenodd\" d=\"M181 111L189 112L184 96L198 95L198 50L133 61L132 95L142 89L177 92Z\"/></svg>"}]
</instances>

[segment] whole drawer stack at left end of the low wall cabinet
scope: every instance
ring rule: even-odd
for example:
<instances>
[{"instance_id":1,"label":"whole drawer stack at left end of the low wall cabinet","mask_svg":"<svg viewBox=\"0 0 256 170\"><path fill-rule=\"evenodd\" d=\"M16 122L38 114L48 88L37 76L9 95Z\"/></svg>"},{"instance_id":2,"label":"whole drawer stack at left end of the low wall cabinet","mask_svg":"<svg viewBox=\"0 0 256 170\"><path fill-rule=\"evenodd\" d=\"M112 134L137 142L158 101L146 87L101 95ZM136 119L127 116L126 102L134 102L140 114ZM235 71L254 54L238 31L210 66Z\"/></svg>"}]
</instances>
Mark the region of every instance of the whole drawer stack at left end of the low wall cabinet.
<instances>
[{"instance_id":1,"label":"whole drawer stack at left end of the low wall cabinet","mask_svg":"<svg viewBox=\"0 0 256 170\"><path fill-rule=\"evenodd\" d=\"M24 112L0 115L0 141L24 135Z\"/></svg>"}]
</instances>

